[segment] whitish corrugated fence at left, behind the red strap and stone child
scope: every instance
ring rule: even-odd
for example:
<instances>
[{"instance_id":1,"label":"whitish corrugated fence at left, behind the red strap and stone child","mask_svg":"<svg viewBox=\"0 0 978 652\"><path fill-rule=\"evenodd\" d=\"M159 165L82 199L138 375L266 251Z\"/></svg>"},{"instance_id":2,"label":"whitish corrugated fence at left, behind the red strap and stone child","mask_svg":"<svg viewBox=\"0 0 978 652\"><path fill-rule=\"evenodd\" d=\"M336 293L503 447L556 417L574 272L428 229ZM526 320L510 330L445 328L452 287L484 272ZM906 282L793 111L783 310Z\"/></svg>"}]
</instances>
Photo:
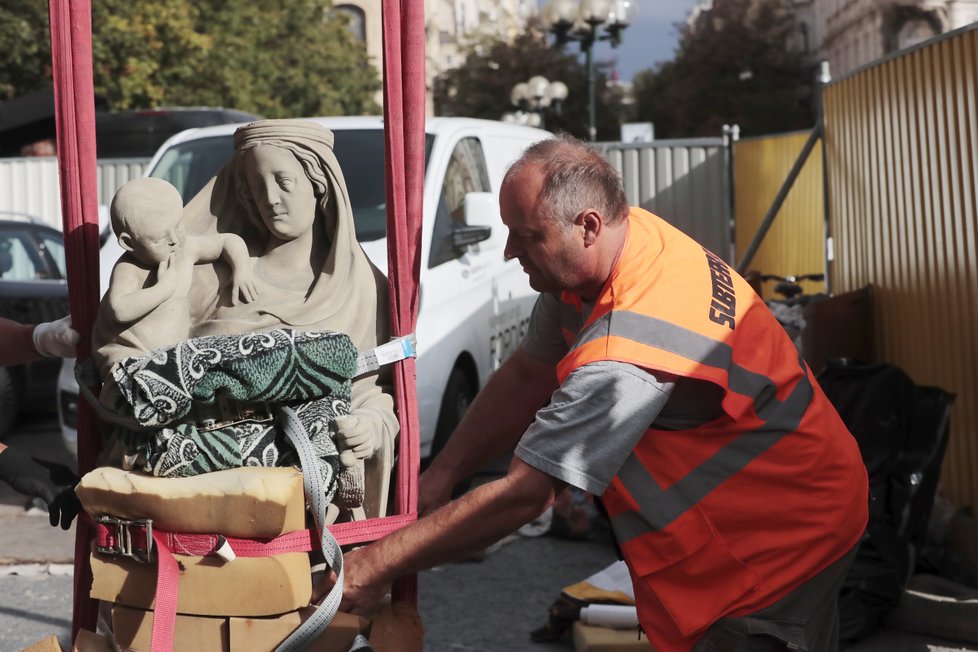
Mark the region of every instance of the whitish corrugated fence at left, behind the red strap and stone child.
<instances>
[{"instance_id":1,"label":"whitish corrugated fence at left, behind the red strap and stone child","mask_svg":"<svg viewBox=\"0 0 978 652\"><path fill-rule=\"evenodd\" d=\"M99 159L98 201L108 204L115 191L141 177L149 159ZM0 158L0 210L28 213L61 229L58 159Z\"/></svg>"}]
</instances>

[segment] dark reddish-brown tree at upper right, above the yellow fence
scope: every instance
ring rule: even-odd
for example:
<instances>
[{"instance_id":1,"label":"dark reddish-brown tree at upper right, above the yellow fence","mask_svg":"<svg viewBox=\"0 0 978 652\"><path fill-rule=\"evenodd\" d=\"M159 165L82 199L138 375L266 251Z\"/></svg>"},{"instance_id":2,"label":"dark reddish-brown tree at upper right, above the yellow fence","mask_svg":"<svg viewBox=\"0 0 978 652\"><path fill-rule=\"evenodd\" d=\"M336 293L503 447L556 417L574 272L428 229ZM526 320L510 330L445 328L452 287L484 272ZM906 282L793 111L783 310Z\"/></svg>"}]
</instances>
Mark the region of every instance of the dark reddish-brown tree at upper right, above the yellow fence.
<instances>
[{"instance_id":1,"label":"dark reddish-brown tree at upper right, above the yellow fence","mask_svg":"<svg viewBox=\"0 0 978 652\"><path fill-rule=\"evenodd\" d=\"M810 127L812 71L791 47L796 34L782 0L714 0L695 29L683 27L674 60L636 75L636 119L660 138Z\"/></svg>"}]
</instances>

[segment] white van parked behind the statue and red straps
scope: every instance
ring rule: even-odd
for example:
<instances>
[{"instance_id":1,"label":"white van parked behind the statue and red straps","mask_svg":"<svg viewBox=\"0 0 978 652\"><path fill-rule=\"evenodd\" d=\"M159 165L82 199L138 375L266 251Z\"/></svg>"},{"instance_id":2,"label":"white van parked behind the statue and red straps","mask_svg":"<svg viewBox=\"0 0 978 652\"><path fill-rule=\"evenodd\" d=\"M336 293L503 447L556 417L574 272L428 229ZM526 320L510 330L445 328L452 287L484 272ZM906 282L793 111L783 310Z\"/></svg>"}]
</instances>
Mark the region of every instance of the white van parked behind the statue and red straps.
<instances>
[{"instance_id":1,"label":"white van parked behind the statue and red straps","mask_svg":"<svg viewBox=\"0 0 978 652\"><path fill-rule=\"evenodd\" d=\"M381 118L310 118L335 134L334 151L350 190L357 238L386 272L386 190ZM147 167L190 200L233 151L240 125L181 132ZM503 257L506 228L499 186L540 129L469 118L429 118L426 126L421 288L418 314L418 408L421 456L437 453L489 375L519 346L536 293L517 261ZM101 252L102 292L121 249ZM69 449L76 447L78 388L74 360L62 367L58 409Z\"/></svg>"}]
</instances>

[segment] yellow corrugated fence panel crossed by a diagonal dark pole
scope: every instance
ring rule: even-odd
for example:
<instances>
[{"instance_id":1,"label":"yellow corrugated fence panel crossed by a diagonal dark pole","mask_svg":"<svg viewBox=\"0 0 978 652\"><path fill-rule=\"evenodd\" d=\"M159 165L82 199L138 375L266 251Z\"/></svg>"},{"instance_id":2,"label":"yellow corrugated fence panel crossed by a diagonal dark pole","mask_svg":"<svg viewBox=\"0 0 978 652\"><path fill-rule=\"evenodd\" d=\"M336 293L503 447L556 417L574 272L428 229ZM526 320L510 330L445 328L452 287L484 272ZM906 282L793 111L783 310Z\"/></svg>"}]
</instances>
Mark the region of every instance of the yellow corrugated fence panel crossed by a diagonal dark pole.
<instances>
[{"instance_id":1,"label":"yellow corrugated fence panel crossed by a diagonal dark pole","mask_svg":"<svg viewBox=\"0 0 978 652\"><path fill-rule=\"evenodd\" d=\"M805 131L745 138L734 145L735 261L743 259L808 136ZM816 146L751 260L750 269L778 276L825 272L822 189L822 151ZM825 291L821 282L803 281L801 285L807 294ZM764 286L765 299L778 298L773 287Z\"/></svg>"}]
</instances>

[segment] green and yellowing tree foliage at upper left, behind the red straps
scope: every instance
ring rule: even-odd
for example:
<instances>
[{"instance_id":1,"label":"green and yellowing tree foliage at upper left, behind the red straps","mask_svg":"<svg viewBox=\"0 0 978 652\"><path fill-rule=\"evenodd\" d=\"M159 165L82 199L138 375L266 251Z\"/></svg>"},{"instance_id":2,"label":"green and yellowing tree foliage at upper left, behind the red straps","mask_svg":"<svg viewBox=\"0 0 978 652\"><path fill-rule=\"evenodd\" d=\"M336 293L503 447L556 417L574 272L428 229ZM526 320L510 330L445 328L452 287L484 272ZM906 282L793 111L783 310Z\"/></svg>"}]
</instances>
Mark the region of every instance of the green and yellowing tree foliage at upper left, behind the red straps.
<instances>
[{"instance_id":1,"label":"green and yellowing tree foliage at upper left, behind the red straps","mask_svg":"<svg viewBox=\"0 0 978 652\"><path fill-rule=\"evenodd\" d=\"M0 42L27 46L0 52L0 93L19 95L50 84L46 3L6 1L13 4L0 10ZM226 106L266 117L379 111L377 73L330 8L329 0L95 0L95 92L115 109Z\"/></svg>"}]
</instances>

